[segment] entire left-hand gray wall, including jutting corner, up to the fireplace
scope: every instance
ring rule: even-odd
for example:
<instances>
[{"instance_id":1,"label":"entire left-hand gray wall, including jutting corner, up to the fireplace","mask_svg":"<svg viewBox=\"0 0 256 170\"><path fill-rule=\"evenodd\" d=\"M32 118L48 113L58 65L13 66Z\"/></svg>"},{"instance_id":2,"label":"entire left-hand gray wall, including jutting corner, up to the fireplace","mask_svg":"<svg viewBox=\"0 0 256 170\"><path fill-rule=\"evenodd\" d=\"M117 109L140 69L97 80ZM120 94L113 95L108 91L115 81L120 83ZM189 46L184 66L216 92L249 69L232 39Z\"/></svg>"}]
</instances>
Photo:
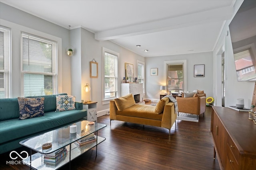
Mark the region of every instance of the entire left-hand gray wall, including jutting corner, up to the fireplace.
<instances>
[{"instance_id":1,"label":"entire left-hand gray wall, including jutting corner, up to the fireplace","mask_svg":"<svg viewBox=\"0 0 256 170\"><path fill-rule=\"evenodd\" d=\"M145 61L144 57L135 54L111 41L97 41L94 33L83 28L70 30L71 45L75 53L68 57L65 53L69 45L69 30L54 23L42 20L36 16L0 3L1 25L12 29L12 97L20 96L20 31L29 30L28 33L42 32L43 35L59 37L62 46L58 48L58 92L65 92L76 96L76 101L86 98L83 90L86 83L91 86L90 99L98 102L97 111L106 114L109 104L102 104L102 48L105 47L120 54L118 64L119 90L122 78L125 75L124 63L134 64L134 75L137 75L137 60ZM4 25L8 23L8 25ZM9 24L10 23L10 24ZM67 25L68 27L68 25ZM31 31L31 32L30 32ZM90 78L90 61L98 62L98 78ZM103 110L103 111L102 111Z\"/></svg>"}]
</instances>

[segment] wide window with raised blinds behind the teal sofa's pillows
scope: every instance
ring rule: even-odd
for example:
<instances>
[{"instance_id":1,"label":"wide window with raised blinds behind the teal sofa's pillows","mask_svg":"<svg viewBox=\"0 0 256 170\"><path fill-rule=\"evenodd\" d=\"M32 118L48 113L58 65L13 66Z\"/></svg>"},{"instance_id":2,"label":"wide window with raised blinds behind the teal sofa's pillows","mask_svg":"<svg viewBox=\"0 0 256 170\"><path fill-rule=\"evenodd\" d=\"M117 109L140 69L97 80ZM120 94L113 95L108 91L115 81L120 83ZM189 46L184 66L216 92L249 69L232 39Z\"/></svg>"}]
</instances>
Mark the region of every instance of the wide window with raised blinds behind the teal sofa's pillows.
<instances>
[{"instance_id":1,"label":"wide window with raised blinds behind the teal sofa's pillows","mask_svg":"<svg viewBox=\"0 0 256 170\"><path fill-rule=\"evenodd\" d=\"M21 34L22 96L56 94L56 42Z\"/></svg>"}]
</instances>

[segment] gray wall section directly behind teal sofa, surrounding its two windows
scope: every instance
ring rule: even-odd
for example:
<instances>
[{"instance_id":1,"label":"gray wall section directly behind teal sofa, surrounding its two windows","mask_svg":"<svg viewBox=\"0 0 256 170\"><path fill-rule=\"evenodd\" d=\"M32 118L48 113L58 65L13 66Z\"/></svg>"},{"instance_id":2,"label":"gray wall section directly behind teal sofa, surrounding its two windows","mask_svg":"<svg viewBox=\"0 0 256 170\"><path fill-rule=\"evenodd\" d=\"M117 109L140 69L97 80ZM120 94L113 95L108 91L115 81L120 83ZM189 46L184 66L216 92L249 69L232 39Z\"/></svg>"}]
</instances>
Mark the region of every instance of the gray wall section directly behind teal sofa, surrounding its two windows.
<instances>
[{"instance_id":1,"label":"gray wall section directly behind teal sofa, surrounding its two windows","mask_svg":"<svg viewBox=\"0 0 256 170\"><path fill-rule=\"evenodd\" d=\"M12 97L20 96L20 31L29 31L28 33L31 34L42 32L62 39L62 47L59 49L60 55L58 56L60 64L58 66L58 92L71 94L70 57L65 54L69 30L1 2L0 19L2 19L1 25L12 29ZM3 23L6 22L3 20L11 23L4 25Z\"/></svg>"}]
</instances>

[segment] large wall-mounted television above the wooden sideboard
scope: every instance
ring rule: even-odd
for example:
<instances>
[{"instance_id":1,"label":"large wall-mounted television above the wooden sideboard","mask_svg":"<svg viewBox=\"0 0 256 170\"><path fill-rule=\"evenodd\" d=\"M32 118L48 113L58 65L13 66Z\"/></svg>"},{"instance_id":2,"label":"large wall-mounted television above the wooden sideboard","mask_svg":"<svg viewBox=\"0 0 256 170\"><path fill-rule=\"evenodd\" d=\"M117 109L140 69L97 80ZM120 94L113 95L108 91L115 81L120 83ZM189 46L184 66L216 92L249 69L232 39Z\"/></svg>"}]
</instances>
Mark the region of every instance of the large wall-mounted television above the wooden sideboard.
<instances>
[{"instance_id":1,"label":"large wall-mounted television above the wooden sideboard","mask_svg":"<svg viewBox=\"0 0 256 170\"><path fill-rule=\"evenodd\" d=\"M256 0L244 0L229 25L238 81L256 81Z\"/></svg>"}]
</instances>

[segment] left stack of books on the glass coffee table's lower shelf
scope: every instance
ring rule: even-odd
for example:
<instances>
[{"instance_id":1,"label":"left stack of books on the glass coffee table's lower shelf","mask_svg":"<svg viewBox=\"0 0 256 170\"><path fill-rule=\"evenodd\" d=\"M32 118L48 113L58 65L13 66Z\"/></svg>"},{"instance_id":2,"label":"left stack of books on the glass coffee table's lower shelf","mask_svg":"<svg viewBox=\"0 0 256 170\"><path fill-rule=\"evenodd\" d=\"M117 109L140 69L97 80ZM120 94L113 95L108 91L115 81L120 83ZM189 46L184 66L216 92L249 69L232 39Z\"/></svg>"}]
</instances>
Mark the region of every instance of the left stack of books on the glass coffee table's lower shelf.
<instances>
[{"instance_id":1,"label":"left stack of books on the glass coffee table's lower shelf","mask_svg":"<svg viewBox=\"0 0 256 170\"><path fill-rule=\"evenodd\" d=\"M59 150L56 150L55 152L52 152L50 154L44 155L44 162L45 163L58 163L60 160L62 160L64 157L66 157L68 151L66 147L63 147Z\"/></svg>"}]
</instances>

